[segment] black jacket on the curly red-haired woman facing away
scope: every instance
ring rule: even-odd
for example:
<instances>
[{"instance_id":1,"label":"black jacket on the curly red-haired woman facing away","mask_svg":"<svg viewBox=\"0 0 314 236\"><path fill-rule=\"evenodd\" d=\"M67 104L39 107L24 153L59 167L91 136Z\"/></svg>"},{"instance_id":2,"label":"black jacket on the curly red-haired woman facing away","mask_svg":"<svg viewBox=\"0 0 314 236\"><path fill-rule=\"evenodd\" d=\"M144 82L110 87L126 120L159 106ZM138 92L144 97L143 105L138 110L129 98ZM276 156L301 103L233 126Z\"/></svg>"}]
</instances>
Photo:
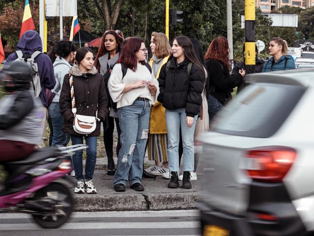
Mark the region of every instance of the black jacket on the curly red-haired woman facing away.
<instances>
[{"instance_id":1,"label":"black jacket on the curly red-haired woman facing away","mask_svg":"<svg viewBox=\"0 0 314 236\"><path fill-rule=\"evenodd\" d=\"M228 68L219 60L207 60L206 67L210 75L209 86L210 89L212 89L210 95L224 105L231 99L233 88L240 85L243 82L243 78L238 72L236 72L235 75L230 75Z\"/></svg>"}]
</instances>

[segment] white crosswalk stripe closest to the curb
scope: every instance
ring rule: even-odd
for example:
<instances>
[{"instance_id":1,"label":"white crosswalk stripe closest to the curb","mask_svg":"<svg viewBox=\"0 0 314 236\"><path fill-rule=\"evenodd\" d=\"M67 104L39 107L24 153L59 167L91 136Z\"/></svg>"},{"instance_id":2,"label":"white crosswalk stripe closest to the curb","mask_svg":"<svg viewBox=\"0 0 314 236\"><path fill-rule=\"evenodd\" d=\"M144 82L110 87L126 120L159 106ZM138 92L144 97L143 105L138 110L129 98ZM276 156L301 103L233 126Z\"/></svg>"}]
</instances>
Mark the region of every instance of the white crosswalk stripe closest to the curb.
<instances>
[{"instance_id":1,"label":"white crosswalk stripe closest to the curb","mask_svg":"<svg viewBox=\"0 0 314 236\"><path fill-rule=\"evenodd\" d=\"M199 216L198 210L158 210L158 211L99 211L99 212L73 212L71 218L85 217L180 217ZM0 213L0 219L30 218L26 213Z\"/></svg>"}]
</instances>

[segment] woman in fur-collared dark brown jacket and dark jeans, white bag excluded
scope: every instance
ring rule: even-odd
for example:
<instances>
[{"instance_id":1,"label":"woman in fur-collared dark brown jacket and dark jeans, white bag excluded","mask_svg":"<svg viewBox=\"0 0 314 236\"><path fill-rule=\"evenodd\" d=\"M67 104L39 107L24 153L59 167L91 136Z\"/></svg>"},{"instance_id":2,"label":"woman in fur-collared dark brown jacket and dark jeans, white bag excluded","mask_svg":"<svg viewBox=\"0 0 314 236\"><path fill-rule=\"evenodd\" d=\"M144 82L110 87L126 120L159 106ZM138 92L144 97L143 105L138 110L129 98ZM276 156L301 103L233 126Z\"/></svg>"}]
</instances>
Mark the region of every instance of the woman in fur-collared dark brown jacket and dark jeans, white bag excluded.
<instances>
[{"instance_id":1,"label":"woman in fur-collared dark brown jacket and dark jeans, white bag excluded","mask_svg":"<svg viewBox=\"0 0 314 236\"><path fill-rule=\"evenodd\" d=\"M94 55L90 49L80 48L76 54L77 65L70 69L70 73L65 75L60 94L60 112L64 118L63 131L71 136L72 144L83 144L83 137L86 145L86 165L85 175L83 175L82 150L78 150L73 155L73 166L77 186L75 193L90 194L97 193L93 185L92 178L96 165L97 138L100 135L100 122L105 120L108 113L108 99L105 89L105 82L93 65ZM77 115L97 116L96 129L90 134L79 134L73 129L74 114L72 113L72 99L70 78L73 77L73 88L75 94L75 104Z\"/></svg>"}]
</instances>

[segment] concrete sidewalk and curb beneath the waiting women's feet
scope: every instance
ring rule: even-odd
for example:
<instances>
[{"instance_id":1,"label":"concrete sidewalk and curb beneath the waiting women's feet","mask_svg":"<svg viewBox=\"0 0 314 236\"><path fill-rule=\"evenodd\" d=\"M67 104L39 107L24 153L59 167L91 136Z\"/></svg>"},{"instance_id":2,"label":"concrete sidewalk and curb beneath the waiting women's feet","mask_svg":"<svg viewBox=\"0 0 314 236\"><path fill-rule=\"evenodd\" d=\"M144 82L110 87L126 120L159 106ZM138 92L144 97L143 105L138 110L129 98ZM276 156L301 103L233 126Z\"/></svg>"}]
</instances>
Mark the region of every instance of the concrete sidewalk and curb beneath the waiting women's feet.
<instances>
[{"instance_id":1,"label":"concrete sidewalk and curb beneath the waiting women's feet","mask_svg":"<svg viewBox=\"0 0 314 236\"><path fill-rule=\"evenodd\" d=\"M117 163L117 159L115 163ZM146 159L146 158L145 158ZM147 162L148 160L145 160ZM191 209L197 206L200 195L200 182L191 181L191 189L167 188L169 179L157 176L156 180L142 179L145 188L143 192L136 192L130 188L129 183L125 192L115 192L113 189L113 177L106 175L106 158L97 158L93 183L97 194L74 194L76 210L79 211L116 211L116 210L170 210ZM75 179L75 177L73 177ZM182 185L182 181L179 181ZM73 188L74 191L74 188Z\"/></svg>"}]
</instances>

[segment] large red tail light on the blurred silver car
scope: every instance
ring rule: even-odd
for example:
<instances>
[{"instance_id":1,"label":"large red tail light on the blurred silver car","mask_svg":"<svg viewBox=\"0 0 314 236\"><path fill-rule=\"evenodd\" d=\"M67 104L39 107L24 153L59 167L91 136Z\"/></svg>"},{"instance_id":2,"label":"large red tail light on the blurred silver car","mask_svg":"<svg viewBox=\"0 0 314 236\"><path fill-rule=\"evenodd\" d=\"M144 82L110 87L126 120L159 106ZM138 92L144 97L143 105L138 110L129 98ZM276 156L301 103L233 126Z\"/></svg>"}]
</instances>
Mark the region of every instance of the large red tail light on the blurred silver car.
<instances>
[{"instance_id":1,"label":"large red tail light on the blurred silver car","mask_svg":"<svg viewBox=\"0 0 314 236\"><path fill-rule=\"evenodd\" d=\"M249 150L245 156L246 172L254 180L280 182L296 158L296 151L286 147Z\"/></svg>"}]
</instances>

